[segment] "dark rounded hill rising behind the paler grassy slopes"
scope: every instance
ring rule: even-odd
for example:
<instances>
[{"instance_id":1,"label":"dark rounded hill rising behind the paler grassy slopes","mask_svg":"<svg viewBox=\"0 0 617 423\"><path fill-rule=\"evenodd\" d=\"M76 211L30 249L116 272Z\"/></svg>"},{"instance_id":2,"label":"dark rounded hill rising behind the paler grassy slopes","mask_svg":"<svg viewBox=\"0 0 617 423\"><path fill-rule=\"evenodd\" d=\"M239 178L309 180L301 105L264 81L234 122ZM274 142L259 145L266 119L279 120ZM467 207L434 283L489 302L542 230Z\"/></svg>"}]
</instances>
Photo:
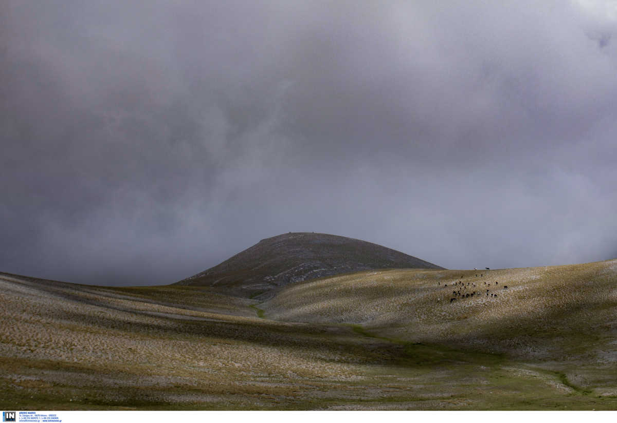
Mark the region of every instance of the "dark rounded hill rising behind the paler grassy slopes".
<instances>
[{"instance_id":1,"label":"dark rounded hill rising behind the paler grassy slopes","mask_svg":"<svg viewBox=\"0 0 617 423\"><path fill-rule=\"evenodd\" d=\"M296 232L261 240L176 284L224 287L226 292L250 296L293 282L383 268L442 267L366 241Z\"/></svg>"}]
</instances>

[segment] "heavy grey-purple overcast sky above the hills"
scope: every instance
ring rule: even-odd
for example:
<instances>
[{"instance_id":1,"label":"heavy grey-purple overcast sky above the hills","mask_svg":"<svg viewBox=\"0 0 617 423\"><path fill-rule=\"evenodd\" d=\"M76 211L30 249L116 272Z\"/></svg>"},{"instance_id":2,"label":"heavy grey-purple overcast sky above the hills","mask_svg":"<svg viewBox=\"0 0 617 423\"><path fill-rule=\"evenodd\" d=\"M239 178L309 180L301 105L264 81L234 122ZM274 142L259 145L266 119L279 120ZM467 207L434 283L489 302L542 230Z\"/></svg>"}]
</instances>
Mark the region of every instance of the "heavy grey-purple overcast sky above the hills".
<instances>
[{"instance_id":1,"label":"heavy grey-purple overcast sky above the hills","mask_svg":"<svg viewBox=\"0 0 617 423\"><path fill-rule=\"evenodd\" d=\"M163 284L323 232L617 258L615 1L2 0L0 271Z\"/></svg>"}]
</instances>

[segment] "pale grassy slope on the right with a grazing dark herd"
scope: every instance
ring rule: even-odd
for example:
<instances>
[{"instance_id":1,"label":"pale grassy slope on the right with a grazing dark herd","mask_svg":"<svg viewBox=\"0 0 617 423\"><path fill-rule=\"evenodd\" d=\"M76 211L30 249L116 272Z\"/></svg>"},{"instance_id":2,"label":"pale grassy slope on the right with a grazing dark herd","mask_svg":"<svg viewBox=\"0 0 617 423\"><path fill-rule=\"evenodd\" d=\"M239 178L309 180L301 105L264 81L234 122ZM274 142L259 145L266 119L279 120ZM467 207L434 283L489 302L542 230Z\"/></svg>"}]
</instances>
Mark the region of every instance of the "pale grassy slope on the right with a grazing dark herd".
<instances>
[{"instance_id":1,"label":"pale grassy slope on the right with a grazing dark herd","mask_svg":"<svg viewBox=\"0 0 617 423\"><path fill-rule=\"evenodd\" d=\"M510 357L617 360L617 260L360 272L286 286L260 307L276 320L362 324L384 336Z\"/></svg>"}]
</instances>

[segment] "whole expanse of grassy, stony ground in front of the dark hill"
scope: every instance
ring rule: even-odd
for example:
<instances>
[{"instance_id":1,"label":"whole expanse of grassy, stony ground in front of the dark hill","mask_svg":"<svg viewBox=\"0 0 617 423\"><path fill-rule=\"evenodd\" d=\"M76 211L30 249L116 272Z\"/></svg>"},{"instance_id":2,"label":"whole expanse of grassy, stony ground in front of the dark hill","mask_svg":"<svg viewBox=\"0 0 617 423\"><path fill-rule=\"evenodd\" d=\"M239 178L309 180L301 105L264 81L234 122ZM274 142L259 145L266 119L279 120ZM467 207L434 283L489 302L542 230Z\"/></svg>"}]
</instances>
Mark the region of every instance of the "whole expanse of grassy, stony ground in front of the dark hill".
<instances>
[{"instance_id":1,"label":"whole expanse of grassy, stony ground in front of the dark hill","mask_svg":"<svg viewBox=\"0 0 617 423\"><path fill-rule=\"evenodd\" d=\"M497 297L450 303L463 283ZM617 409L616 360L617 260L360 272L263 304L0 274L6 409Z\"/></svg>"}]
</instances>

